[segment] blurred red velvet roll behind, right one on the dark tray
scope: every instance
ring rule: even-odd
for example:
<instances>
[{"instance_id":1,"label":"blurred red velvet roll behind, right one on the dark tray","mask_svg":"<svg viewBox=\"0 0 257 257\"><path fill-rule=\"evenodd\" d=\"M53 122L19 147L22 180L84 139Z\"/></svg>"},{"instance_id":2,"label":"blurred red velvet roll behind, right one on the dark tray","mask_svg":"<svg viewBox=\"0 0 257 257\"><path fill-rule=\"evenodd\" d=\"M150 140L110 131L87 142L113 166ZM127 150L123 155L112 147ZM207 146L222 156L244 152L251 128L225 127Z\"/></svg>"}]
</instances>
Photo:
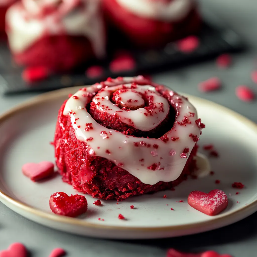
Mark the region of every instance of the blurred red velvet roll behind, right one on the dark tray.
<instances>
[{"instance_id":1,"label":"blurred red velvet roll behind, right one on the dark tray","mask_svg":"<svg viewBox=\"0 0 257 257\"><path fill-rule=\"evenodd\" d=\"M199 30L194 0L103 0L111 24L141 47L158 47Z\"/></svg>"}]
</instances>

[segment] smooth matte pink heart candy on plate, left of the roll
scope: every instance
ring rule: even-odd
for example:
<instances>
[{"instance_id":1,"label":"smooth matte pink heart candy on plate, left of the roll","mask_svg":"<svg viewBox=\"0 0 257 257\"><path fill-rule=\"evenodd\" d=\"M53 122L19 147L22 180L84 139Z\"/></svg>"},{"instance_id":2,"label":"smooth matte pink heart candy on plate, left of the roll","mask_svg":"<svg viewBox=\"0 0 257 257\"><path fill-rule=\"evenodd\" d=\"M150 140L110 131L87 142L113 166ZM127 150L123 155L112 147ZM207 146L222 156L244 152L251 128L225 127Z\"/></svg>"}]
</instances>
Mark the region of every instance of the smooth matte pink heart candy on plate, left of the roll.
<instances>
[{"instance_id":1,"label":"smooth matte pink heart candy on plate, left of the roll","mask_svg":"<svg viewBox=\"0 0 257 257\"><path fill-rule=\"evenodd\" d=\"M22 173L32 181L38 181L53 175L54 164L50 161L29 162L22 166Z\"/></svg>"}]
</instances>

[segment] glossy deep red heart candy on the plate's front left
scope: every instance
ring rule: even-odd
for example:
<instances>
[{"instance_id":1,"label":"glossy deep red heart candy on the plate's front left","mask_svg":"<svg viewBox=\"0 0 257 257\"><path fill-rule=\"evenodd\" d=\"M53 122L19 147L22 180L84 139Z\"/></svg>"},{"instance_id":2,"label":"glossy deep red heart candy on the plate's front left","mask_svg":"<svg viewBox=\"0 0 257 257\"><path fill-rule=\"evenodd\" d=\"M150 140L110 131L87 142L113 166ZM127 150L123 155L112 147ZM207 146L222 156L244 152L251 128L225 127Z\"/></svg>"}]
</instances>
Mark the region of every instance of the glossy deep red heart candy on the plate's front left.
<instances>
[{"instance_id":1,"label":"glossy deep red heart candy on the plate's front left","mask_svg":"<svg viewBox=\"0 0 257 257\"><path fill-rule=\"evenodd\" d=\"M87 199L83 195L71 195L57 192L49 200L51 210L55 214L77 217L87 211Z\"/></svg>"}]
</instances>

